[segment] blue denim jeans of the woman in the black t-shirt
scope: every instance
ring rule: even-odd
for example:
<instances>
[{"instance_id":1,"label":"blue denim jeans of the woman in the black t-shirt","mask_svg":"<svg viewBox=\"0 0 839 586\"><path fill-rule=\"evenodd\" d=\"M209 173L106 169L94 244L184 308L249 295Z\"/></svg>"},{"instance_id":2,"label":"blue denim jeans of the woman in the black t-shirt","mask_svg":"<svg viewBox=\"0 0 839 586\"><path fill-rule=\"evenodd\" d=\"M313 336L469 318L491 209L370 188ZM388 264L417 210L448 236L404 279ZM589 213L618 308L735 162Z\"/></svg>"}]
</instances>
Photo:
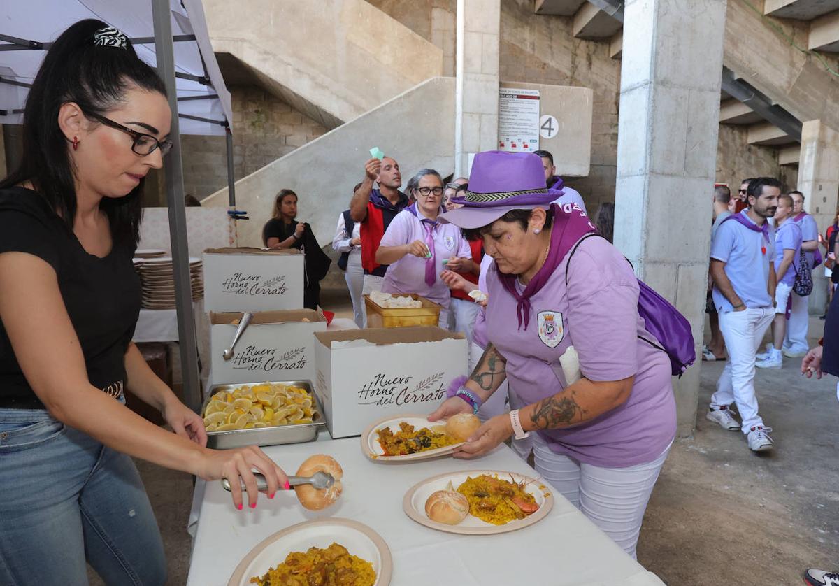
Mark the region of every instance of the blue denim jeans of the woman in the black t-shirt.
<instances>
[{"instance_id":1,"label":"blue denim jeans of the woman in the black t-shirt","mask_svg":"<svg viewBox=\"0 0 839 586\"><path fill-rule=\"evenodd\" d=\"M0 409L0 584L159 585L166 560L131 458L44 410Z\"/></svg>"}]
</instances>

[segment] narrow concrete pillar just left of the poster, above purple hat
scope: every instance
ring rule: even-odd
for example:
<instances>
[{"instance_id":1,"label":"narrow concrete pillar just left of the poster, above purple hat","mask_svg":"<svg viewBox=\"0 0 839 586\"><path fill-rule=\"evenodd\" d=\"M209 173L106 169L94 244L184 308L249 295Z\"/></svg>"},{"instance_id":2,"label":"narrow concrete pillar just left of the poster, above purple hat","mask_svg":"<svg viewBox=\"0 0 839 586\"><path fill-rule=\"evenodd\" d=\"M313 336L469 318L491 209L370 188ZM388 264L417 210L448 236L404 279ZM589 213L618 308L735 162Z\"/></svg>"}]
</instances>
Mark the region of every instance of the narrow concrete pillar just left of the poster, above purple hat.
<instances>
[{"instance_id":1,"label":"narrow concrete pillar just left of the poster, above purple hat","mask_svg":"<svg viewBox=\"0 0 839 586\"><path fill-rule=\"evenodd\" d=\"M498 146L498 43L501 0L457 0L455 176L469 154Z\"/></svg>"}]
</instances>

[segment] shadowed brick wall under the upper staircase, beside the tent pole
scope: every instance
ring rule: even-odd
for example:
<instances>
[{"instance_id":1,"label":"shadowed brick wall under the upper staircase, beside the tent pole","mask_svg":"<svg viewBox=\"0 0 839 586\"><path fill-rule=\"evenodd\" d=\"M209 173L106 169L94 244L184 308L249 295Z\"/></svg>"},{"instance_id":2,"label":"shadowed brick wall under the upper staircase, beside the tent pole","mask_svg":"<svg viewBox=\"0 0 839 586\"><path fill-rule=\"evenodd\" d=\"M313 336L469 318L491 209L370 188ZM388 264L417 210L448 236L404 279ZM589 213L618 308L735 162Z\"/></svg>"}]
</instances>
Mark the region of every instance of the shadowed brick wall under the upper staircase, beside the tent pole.
<instances>
[{"instance_id":1,"label":"shadowed brick wall under the upper staircase, beside the tent pole","mask_svg":"<svg viewBox=\"0 0 839 586\"><path fill-rule=\"evenodd\" d=\"M262 169L326 128L257 86L232 86L233 171L237 179ZM184 136L184 192L198 199L227 187L223 136ZM277 186L279 191L282 186Z\"/></svg>"}]
</instances>

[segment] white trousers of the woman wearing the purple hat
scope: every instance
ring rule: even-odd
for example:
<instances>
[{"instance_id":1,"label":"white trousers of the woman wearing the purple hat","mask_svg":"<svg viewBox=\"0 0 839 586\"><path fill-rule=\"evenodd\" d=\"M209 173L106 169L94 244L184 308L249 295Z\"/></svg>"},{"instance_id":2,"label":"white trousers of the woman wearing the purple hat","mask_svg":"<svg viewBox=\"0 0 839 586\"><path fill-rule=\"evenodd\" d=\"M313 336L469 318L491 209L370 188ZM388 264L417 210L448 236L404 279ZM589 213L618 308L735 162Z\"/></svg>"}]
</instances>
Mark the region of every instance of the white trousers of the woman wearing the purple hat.
<instances>
[{"instance_id":1,"label":"white trousers of the woman wearing the purple hat","mask_svg":"<svg viewBox=\"0 0 839 586\"><path fill-rule=\"evenodd\" d=\"M649 495L659 479L670 446L649 463L600 468L555 453L538 433L531 432L530 437L536 471L623 547L624 552L635 557Z\"/></svg>"}]
</instances>

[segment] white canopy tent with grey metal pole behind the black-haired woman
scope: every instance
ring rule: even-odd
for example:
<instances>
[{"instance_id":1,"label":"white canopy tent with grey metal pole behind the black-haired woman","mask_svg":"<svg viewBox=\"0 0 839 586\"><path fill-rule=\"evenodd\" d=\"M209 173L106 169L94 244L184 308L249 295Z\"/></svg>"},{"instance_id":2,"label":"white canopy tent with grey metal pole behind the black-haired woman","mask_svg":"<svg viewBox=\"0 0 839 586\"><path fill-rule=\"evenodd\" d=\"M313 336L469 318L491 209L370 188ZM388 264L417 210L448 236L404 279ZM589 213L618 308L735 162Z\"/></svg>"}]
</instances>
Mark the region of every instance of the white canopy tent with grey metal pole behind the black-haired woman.
<instances>
[{"instance_id":1,"label":"white canopy tent with grey metal pole behind the black-haired woman","mask_svg":"<svg viewBox=\"0 0 839 586\"><path fill-rule=\"evenodd\" d=\"M230 92L212 52L201 0L5 0L0 3L0 123L23 122L29 86L50 41L84 18L98 18L132 39L138 55L157 67L169 93L174 145L165 161L169 237L185 402L197 410L201 389L191 311L180 134L227 136L227 181L233 205Z\"/></svg>"}]
</instances>

